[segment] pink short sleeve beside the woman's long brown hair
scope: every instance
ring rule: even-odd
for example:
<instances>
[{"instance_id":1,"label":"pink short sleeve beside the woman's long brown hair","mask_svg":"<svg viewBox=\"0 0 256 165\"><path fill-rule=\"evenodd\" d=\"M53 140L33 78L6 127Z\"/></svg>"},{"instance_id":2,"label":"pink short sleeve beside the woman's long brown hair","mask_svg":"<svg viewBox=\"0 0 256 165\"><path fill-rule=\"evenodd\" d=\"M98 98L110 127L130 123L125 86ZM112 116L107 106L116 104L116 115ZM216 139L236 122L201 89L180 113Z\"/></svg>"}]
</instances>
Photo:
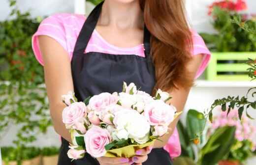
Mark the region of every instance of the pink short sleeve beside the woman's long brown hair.
<instances>
[{"instance_id":1,"label":"pink short sleeve beside the woman's long brown hair","mask_svg":"<svg viewBox=\"0 0 256 165\"><path fill-rule=\"evenodd\" d=\"M211 58L211 53L206 47L202 37L195 30L192 30L192 40L193 40L192 55L200 55L200 54L203 55L203 60L195 76L195 79L197 79L207 67Z\"/></svg>"}]
</instances>

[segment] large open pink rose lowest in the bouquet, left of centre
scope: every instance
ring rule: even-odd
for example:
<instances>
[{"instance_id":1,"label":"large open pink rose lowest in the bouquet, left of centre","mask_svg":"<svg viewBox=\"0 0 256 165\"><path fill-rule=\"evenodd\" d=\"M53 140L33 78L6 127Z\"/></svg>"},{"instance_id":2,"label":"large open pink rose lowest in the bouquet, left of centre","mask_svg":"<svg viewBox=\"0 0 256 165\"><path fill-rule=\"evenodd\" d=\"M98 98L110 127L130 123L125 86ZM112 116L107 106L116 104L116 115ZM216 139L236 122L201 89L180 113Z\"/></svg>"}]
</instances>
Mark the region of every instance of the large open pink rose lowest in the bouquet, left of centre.
<instances>
[{"instance_id":1,"label":"large open pink rose lowest in the bouquet, left of centre","mask_svg":"<svg viewBox=\"0 0 256 165\"><path fill-rule=\"evenodd\" d=\"M85 134L86 151L93 157L99 158L106 154L105 145L111 142L111 136L106 129L93 126Z\"/></svg>"}]
</instances>

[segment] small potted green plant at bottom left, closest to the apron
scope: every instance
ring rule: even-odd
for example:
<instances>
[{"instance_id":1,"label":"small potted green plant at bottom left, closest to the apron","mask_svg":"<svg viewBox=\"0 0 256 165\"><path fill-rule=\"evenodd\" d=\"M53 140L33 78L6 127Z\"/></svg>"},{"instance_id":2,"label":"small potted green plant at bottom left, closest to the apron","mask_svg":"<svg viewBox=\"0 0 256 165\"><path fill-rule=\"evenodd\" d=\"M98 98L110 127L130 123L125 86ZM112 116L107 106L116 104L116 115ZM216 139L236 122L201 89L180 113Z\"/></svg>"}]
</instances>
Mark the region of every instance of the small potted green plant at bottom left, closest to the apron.
<instances>
[{"instance_id":1,"label":"small potted green plant at bottom left, closest to the apron","mask_svg":"<svg viewBox=\"0 0 256 165\"><path fill-rule=\"evenodd\" d=\"M44 147L41 149L42 165L57 165L59 147Z\"/></svg>"}]
</instances>

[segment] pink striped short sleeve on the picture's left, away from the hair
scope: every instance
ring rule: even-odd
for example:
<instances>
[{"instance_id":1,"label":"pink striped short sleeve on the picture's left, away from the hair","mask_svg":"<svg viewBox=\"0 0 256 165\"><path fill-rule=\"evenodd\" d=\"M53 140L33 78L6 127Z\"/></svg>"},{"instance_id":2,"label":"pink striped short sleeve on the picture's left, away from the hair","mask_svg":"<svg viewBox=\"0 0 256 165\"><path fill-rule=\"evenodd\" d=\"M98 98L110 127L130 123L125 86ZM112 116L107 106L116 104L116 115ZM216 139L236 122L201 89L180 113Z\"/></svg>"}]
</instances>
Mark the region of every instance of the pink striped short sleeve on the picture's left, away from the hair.
<instances>
[{"instance_id":1,"label":"pink striped short sleeve on the picture's left, away from the hair","mask_svg":"<svg viewBox=\"0 0 256 165\"><path fill-rule=\"evenodd\" d=\"M64 48L64 50L67 51L67 43L66 43L66 37L65 37L65 29L63 26L63 22L60 19L61 14L53 14L47 18L45 18L37 28L37 31L32 35L32 50L34 52L34 55L37 59L37 61L44 65L43 58L39 49L38 44L38 36L39 35L47 35L49 37L52 37L55 39L58 43L61 44L61 46ZM71 56L69 55L69 58L71 59Z\"/></svg>"}]
</instances>

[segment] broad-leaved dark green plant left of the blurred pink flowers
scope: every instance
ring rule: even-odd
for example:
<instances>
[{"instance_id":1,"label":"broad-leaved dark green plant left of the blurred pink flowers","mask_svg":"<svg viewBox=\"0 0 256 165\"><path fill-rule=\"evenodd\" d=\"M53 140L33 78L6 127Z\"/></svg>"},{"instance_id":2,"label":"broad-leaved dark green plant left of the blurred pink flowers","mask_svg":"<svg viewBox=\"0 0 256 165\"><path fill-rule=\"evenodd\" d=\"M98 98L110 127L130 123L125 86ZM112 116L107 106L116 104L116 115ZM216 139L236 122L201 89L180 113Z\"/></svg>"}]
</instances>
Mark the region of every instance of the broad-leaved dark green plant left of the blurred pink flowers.
<instances>
[{"instance_id":1,"label":"broad-leaved dark green plant left of the blurred pink flowers","mask_svg":"<svg viewBox=\"0 0 256 165\"><path fill-rule=\"evenodd\" d=\"M201 112L189 110L186 125L178 123L182 154L174 160L174 165L192 165L192 162L196 165L215 165L229 152L235 127L218 128L207 137L204 133L204 116Z\"/></svg>"}]
</instances>

